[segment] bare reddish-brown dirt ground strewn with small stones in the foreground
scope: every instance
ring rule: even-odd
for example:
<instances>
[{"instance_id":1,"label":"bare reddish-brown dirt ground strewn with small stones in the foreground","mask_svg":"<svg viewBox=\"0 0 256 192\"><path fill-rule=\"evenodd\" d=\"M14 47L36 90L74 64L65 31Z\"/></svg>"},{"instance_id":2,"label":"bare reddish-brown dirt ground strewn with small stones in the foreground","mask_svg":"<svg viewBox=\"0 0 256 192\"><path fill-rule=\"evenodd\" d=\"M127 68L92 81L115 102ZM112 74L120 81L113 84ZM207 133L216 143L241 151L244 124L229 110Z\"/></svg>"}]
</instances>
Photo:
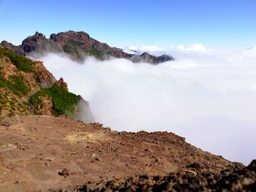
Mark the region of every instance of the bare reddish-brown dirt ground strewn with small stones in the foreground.
<instances>
[{"instance_id":1,"label":"bare reddish-brown dirt ground strewn with small stones in the foreground","mask_svg":"<svg viewBox=\"0 0 256 192\"><path fill-rule=\"evenodd\" d=\"M219 173L236 166L242 165L167 132L117 132L50 116L0 126L0 191L45 191L142 174Z\"/></svg>"}]
</instances>

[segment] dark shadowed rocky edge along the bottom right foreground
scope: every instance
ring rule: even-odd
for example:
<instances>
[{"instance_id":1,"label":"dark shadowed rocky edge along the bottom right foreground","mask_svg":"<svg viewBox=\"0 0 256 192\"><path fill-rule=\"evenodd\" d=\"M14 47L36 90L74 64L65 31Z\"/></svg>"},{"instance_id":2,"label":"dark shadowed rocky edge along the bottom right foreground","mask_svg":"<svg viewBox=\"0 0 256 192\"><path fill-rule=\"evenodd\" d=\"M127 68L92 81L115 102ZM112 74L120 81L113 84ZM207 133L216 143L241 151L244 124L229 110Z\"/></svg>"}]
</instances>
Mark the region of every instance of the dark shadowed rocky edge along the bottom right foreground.
<instances>
[{"instance_id":1,"label":"dark shadowed rocky edge along the bottom right foreground","mask_svg":"<svg viewBox=\"0 0 256 192\"><path fill-rule=\"evenodd\" d=\"M256 191L255 162L244 169L221 174L180 172L165 177L140 175L88 182L59 191Z\"/></svg>"}]
</instances>

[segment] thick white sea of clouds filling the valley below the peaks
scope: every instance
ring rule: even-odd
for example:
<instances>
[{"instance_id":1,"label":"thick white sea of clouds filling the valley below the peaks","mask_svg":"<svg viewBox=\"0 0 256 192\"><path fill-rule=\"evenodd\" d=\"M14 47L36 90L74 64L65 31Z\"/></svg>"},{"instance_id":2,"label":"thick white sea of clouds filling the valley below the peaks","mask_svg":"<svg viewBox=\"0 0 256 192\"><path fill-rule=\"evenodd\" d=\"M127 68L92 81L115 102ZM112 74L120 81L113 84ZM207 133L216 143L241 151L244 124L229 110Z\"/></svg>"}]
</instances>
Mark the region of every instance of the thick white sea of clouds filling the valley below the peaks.
<instances>
[{"instance_id":1,"label":"thick white sea of clouds filling the valley below the peaks","mask_svg":"<svg viewBox=\"0 0 256 192\"><path fill-rule=\"evenodd\" d=\"M118 131L172 131L203 150L248 164L256 158L256 54L178 53L157 66L126 59L76 64L40 58L94 117Z\"/></svg>"}]
</instances>

